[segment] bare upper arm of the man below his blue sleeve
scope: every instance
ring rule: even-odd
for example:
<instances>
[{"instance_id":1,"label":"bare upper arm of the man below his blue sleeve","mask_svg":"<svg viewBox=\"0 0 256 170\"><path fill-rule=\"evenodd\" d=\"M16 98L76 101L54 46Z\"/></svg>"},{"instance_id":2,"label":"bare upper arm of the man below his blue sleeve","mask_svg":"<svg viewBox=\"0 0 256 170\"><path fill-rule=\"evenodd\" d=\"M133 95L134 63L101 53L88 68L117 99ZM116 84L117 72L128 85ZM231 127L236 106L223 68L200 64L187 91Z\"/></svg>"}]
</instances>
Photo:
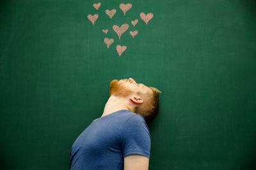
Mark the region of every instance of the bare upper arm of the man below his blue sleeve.
<instances>
[{"instance_id":1,"label":"bare upper arm of the man below his blue sleeve","mask_svg":"<svg viewBox=\"0 0 256 170\"><path fill-rule=\"evenodd\" d=\"M124 157L124 170L148 170L149 159L143 155L131 154Z\"/></svg>"}]
</instances>

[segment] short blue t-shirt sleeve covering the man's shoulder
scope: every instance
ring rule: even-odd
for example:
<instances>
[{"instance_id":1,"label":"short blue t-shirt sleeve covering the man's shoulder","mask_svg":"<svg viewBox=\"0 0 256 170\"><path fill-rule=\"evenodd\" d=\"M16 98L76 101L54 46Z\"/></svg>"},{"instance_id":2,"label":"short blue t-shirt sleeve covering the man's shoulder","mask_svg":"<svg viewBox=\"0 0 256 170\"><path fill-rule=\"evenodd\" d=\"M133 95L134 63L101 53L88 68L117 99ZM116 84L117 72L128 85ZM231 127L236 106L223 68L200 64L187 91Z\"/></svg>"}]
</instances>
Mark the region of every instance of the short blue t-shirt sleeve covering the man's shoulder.
<instances>
[{"instance_id":1,"label":"short blue t-shirt sleeve covering the man's shoulder","mask_svg":"<svg viewBox=\"0 0 256 170\"><path fill-rule=\"evenodd\" d=\"M141 115L133 115L123 125L121 131L123 156L140 154L150 156L151 136Z\"/></svg>"}]
</instances>

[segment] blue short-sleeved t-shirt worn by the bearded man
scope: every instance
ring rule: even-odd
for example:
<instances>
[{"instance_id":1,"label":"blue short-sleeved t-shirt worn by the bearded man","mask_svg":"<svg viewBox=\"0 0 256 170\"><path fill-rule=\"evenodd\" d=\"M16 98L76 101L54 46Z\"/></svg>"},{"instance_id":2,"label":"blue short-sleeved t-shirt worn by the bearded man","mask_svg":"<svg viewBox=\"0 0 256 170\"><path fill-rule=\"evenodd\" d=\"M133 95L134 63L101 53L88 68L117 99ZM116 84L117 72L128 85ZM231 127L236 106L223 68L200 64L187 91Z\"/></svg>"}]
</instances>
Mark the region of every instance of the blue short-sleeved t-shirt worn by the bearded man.
<instances>
[{"instance_id":1,"label":"blue short-sleeved t-shirt worn by the bearded man","mask_svg":"<svg viewBox=\"0 0 256 170\"><path fill-rule=\"evenodd\" d=\"M144 118L119 110L97 118L78 136L70 150L72 170L124 169L124 157L149 158L151 137Z\"/></svg>"}]
</instances>

